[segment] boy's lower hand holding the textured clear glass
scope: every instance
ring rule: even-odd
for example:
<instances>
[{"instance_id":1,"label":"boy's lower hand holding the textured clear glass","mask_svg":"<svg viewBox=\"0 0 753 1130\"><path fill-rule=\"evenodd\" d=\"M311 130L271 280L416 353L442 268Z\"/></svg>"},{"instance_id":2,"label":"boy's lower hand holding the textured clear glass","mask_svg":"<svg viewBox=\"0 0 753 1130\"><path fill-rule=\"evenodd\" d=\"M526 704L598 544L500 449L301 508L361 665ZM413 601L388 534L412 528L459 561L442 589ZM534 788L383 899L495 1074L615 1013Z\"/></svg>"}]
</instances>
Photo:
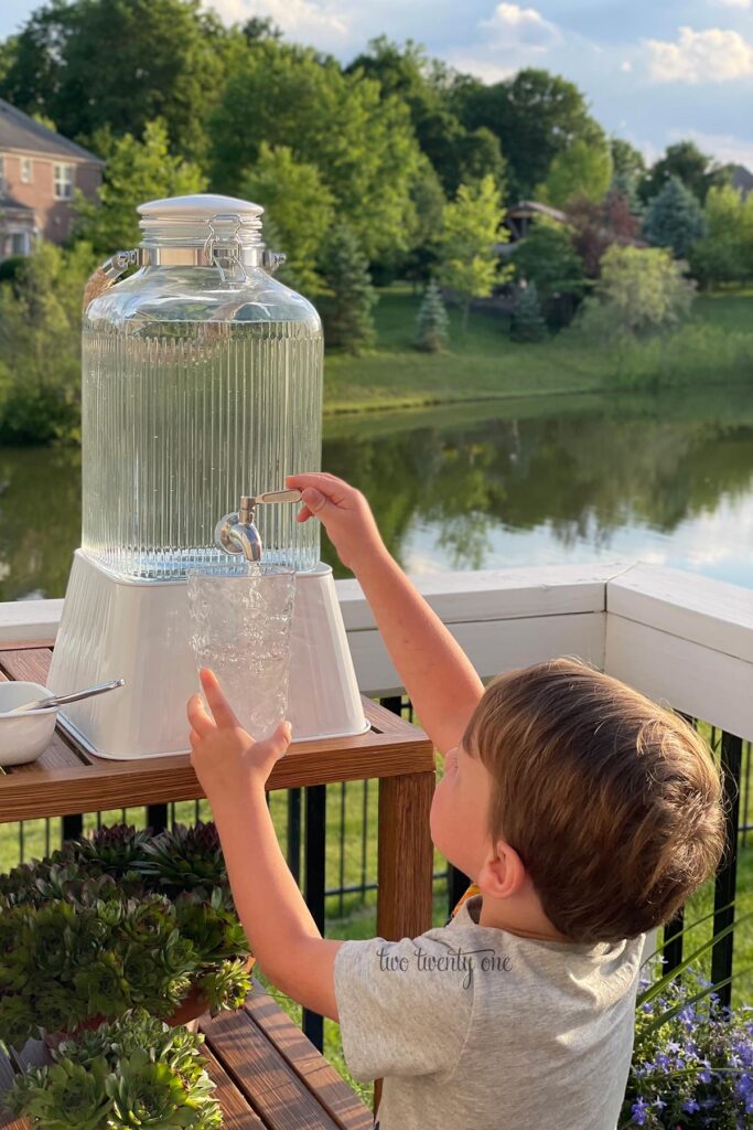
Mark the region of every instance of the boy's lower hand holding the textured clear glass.
<instances>
[{"instance_id":1,"label":"boy's lower hand holding the textured clear glass","mask_svg":"<svg viewBox=\"0 0 753 1130\"><path fill-rule=\"evenodd\" d=\"M254 741L243 729L220 689L213 671L204 668L201 685L211 711L199 695L189 699L191 764L209 800L237 799L238 791L255 782L264 788L275 762L290 745L290 723L281 722L264 741Z\"/></svg>"}]
</instances>

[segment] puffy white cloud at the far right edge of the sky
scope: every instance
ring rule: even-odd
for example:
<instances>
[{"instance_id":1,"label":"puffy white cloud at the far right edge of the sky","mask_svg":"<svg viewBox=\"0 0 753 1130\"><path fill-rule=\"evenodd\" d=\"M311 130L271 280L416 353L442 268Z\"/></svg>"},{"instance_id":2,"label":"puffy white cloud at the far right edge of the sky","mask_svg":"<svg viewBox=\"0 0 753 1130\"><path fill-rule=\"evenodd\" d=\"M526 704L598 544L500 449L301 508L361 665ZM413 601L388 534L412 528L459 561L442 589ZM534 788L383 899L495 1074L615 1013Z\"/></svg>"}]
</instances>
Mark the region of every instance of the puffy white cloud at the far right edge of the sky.
<instances>
[{"instance_id":1,"label":"puffy white cloud at the far right edge of the sky","mask_svg":"<svg viewBox=\"0 0 753 1130\"><path fill-rule=\"evenodd\" d=\"M738 32L681 27L676 43L646 40L657 82L727 82L753 75L753 46Z\"/></svg>"}]
</instances>

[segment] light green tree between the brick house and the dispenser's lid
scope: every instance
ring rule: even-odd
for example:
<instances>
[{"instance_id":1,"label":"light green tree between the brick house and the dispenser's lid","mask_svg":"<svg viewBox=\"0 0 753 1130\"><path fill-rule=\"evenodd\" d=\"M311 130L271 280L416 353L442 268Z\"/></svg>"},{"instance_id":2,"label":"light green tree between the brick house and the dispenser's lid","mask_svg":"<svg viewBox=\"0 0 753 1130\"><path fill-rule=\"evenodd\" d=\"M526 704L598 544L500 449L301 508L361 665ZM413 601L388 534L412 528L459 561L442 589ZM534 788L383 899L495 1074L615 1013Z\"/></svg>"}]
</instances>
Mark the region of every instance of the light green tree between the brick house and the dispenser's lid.
<instances>
[{"instance_id":1,"label":"light green tree between the brick house and the dispenser's lid","mask_svg":"<svg viewBox=\"0 0 753 1130\"><path fill-rule=\"evenodd\" d=\"M108 142L99 202L76 195L76 235L99 254L132 247L140 240L137 208L147 200L201 192L207 180L198 165L170 156L164 122L147 122L143 138L126 133Z\"/></svg>"}]
</instances>

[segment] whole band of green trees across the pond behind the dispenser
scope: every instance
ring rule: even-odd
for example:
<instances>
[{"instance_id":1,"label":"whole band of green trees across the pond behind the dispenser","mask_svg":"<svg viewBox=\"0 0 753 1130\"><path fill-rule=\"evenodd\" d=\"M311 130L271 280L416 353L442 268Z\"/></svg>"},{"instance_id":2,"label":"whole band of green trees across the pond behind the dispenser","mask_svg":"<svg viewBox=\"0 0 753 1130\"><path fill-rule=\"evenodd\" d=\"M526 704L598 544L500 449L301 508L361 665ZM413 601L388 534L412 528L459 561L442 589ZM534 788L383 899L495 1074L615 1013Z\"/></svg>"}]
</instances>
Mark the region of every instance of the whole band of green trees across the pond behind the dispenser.
<instances>
[{"instance_id":1,"label":"whole band of green trees across the pond behind the dispenser","mask_svg":"<svg viewBox=\"0 0 753 1130\"><path fill-rule=\"evenodd\" d=\"M647 167L575 84L541 69L485 84L386 37L343 66L286 42L269 19L226 26L200 0L51 0L0 44L0 96L106 162L99 200L77 197L70 247L0 268L10 434L54 416L42 401L61 395L54 427L73 426L72 345L64 394L45 375L44 341L78 334L59 290L95 257L133 246L135 208L158 197L263 203L265 240L288 254L283 281L316 298L330 346L354 351L374 339L371 284L397 278L440 284L466 316L473 297L517 280L511 332L533 340L598 296L605 257L614 275L628 249L666 249L653 259L666 285L683 281L681 261L702 285L753 275L753 198L729 188L728 166L683 141ZM500 257L505 209L532 199L568 223L537 223ZM432 285L418 344L445 338ZM38 375L38 402L28 389L14 401L19 356L25 383Z\"/></svg>"}]
</instances>

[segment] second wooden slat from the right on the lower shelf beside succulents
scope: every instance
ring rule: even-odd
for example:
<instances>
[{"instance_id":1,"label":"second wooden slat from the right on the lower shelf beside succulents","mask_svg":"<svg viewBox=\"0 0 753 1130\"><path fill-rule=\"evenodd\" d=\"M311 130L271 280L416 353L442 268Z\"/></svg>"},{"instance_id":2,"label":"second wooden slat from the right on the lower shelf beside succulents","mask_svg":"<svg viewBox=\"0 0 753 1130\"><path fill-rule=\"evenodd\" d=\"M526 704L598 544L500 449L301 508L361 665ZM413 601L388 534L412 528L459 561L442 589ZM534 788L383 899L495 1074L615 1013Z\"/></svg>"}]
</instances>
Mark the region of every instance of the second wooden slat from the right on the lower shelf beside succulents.
<instances>
[{"instance_id":1,"label":"second wooden slat from the right on the lower shelf beside succulents","mask_svg":"<svg viewBox=\"0 0 753 1130\"><path fill-rule=\"evenodd\" d=\"M342 1130L244 1009L220 1012L200 1027L269 1130Z\"/></svg>"}]
</instances>

